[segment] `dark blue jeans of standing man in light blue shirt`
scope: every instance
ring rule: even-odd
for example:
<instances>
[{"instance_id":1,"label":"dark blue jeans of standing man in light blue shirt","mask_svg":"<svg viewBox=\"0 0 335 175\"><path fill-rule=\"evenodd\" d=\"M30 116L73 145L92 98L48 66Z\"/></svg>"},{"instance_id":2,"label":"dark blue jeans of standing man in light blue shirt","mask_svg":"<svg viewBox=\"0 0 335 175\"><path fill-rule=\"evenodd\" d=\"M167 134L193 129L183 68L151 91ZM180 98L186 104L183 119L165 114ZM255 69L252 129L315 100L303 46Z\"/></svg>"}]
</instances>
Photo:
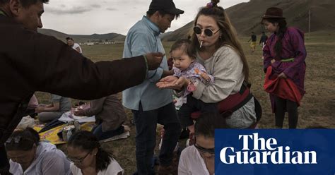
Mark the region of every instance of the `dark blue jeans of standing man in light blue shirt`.
<instances>
[{"instance_id":1,"label":"dark blue jeans of standing man in light blue shirt","mask_svg":"<svg viewBox=\"0 0 335 175\"><path fill-rule=\"evenodd\" d=\"M151 168L151 160L156 145L157 123L163 125L165 130L162 147L160 148L160 164L165 166L171 164L172 153L180 136L181 127L175 105L171 102L158 109L143 111L140 102L139 110L132 110L132 112L136 126L137 173L139 175L155 174Z\"/></svg>"}]
</instances>

